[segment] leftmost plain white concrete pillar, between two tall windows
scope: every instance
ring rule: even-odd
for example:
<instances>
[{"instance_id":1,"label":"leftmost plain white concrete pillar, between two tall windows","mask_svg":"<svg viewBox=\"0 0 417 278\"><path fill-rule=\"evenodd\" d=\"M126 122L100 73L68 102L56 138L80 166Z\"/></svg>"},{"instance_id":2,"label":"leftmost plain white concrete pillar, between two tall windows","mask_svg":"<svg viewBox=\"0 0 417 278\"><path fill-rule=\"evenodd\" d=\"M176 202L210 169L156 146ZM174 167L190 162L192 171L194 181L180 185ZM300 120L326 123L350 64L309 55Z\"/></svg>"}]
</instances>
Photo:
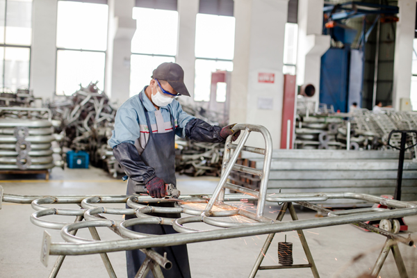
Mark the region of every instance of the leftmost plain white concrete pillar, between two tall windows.
<instances>
[{"instance_id":1,"label":"leftmost plain white concrete pillar, between two tall windows","mask_svg":"<svg viewBox=\"0 0 417 278\"><path fill-rule=\"evenodd\" d=\"M55 94L57 10L57 0L32 2L31 90L44 101Z\"/></svg>"}]
</instances>

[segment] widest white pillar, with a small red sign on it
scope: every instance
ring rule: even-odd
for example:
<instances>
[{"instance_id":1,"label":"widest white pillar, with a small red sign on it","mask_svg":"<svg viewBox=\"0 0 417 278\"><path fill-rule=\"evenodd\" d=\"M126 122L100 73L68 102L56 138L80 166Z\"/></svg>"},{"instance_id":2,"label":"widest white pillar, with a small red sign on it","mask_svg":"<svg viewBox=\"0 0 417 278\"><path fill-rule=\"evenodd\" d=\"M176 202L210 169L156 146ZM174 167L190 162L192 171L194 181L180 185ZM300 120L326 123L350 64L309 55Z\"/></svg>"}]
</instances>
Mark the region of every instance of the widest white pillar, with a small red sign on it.
<instances>
[{"instance_id":1,"label":"widest white pillar, with a small red sign on it","mask_svg":"<svg viewBox=\"0 0 417 278\"><path fill-rule=\"evenodd\" d=\"M288 0L234 2L236 33L230 122L265 126L275 149L281 140L287 10ZM265 145L260 135L252 135L249 144Z\"/></svg>"}]
</instances>

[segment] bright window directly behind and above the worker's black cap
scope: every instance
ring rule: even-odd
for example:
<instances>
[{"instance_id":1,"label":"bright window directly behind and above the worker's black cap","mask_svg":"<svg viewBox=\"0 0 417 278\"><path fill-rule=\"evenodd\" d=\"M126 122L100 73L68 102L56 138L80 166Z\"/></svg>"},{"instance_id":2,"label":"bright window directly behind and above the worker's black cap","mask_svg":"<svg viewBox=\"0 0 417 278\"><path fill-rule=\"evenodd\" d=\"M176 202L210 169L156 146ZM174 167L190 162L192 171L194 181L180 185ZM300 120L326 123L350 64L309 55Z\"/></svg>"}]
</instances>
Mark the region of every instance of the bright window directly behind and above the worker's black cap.
<instances>
[{"instance_id":1,"label":"bright window directly behind and above the worker's black cap","mask_svg":"<svg viewBox=\"0 0 417 278\"><path fill-rule=\"evenodd\" d=\"M149 85L152 71L158 65L175 62L178 12L135 7L133 19L136 19L136 32L131 44L131 96Z\"/></svg>"}]
</instances>

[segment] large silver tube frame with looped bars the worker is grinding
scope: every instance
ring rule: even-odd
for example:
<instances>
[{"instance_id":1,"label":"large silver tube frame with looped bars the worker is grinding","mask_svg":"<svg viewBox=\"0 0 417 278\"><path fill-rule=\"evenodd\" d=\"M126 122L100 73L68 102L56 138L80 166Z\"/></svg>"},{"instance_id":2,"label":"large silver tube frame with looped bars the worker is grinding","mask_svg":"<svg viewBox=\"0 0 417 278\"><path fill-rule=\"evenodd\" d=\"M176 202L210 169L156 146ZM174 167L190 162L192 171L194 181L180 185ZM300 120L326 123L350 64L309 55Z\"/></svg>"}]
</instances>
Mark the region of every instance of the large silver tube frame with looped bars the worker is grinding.
<instances>
[{"instance_id":1,"label":"large silver tube frame with looped bars the worker is grinding","mask_svg":"<svg viewBox=\"0 0 417 278\"><path fill-rule=\"evenodd\" d=\"M261 234L271 235L281 231L297 230L302 232L303 229L329 227L340 224L357 224L370 220L393 219L409 215L417 215L416 204L360 193L277 193L267 197L266 190L272 160L272 139L270 137L270 133L263 126L254 126L251 124L237 124L234 126L234 130L235 129L236 131L243 130L244 132L243 135L240 136L240 142L238 145L231 143L231 136L227 138L224 151L224 164L222 166L222 177L220 178L220 182L215 188L213 195L181 195L181 197L179 197L179 202L175 202L170 199L153 199L149 196L142 195L63 195L53 197L42 195L22 196L9 194L2 195L3 190L0 186L0 205L1 202L32 204L33 208L36 210L35 213L31 215L31 222L33 222L33 224L47 229L61 229L60 234L63 239L67 241L67 243L51 243L50 237L47 235L44 236L44 245L42 246L41 254L42 261L47 261L49 255L104 254L108 252L126 250L146 250L152 247L173 246ZM245 142L252 131L263 134L265 139L265 149L245 146ZM233 169L239 153L243 150L265 155L259 194L256 191L256 193L247 191L247 188L241 189L244 194L224 194L224 189L227 187L238 189L235 185L227 186L227 177ZM252 193L252 195L249 193ZM293 211L293 206L291 204L291 202L297 202L298 204L302 204L302 206L313 207L314 205L308 203L308 201L320 200L321 202L327 199L345 198L360 199L370 203L382 204L387 206L387 208L379 210L357 209L347 211L346 213L332 213L328 211L328 217L326 218L297 220L297 216L295 215L295 211ZM257 201L258 206L256 208L256 213L252 213L241 207L236 207L233 204L226 204L226 202L237 202L242 199ZM263 208L266 201L288 203L293 221L279 222L263 216ZM176 203L176 206L173 208L152 206L152 204L156 202L174 202ZM104 204L116 203L126 203L129 208L111 208L103 206ZM53 204L54 206L57 204L79 204L81 205L81 208L76 210L51 208L43 206L43 204ZM201 204L201 206L195 206L196 204ZM190 216L178 219L156 218L146 214L151 212L186 213ZM115 215L136 214L138 218L124 221L114 221L104 218L103 214L106 213ZM42 216L44 215L83 215L85 221L75 223L50 222L42 220ZM216 219L218 217L231 216L246 218L247 221L245 221L245 223L236 223ZM281 214L279 218L281 218ZM208 227L223 227L223 229L216 228L201 231L190 229L183 225L190 222L204 222L208 225ZM179 231L179 233L157 236L139 234L126 229L126 227L135 224L169 224L172 225L175 230ZM117 240L99 240L97 237L93 236L95 239L88 240L76 237L74 234L74 231L78 229L90 229L95 227L108 227L122 238ZM46 231L45 234L47 234ZM392 236L390 233L382 235L388 235L388 238L402 238L400 236ZM302 236L300 240L303 238L304 236ZM402 242L407 242L407 239L403 238ZM410 240L408 240L408 242L410 242ZM304 251L305 250L306 249L304 248ZM400 256L397 256L397 258L400 258ZM311 261L309 261L309 265L313 267L313 263L311 262L312 257ZM156 263L161 265L158 261L156 261ZM260 265L261 261L257 261L257 263Z\"/></svg>"}]
</instances>

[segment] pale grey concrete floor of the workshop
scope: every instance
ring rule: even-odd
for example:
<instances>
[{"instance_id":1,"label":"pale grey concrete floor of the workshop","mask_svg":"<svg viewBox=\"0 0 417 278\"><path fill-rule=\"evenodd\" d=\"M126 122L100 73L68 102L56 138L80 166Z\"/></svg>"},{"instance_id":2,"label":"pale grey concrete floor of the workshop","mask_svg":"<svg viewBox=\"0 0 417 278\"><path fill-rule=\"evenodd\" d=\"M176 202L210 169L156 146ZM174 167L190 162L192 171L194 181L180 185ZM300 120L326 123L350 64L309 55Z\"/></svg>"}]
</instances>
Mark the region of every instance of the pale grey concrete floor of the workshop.
<instances>
[{"instance_id":1,"label":"pale grey concrete floor of the workshop","mask_svg":"<svg viewBox=\"0 0 417 278\"><path fill-rule=\"evenodd\" d=\"M123 195L126 183L112 179L102 170L65 171L54 169L51 180L42 181L38 177L19 176L2 177L0 185L4 193L18 195ZM26 180L21 180L26 179ZM212 193L217 178L178 177L178 187L183 194ZM74 207L71 205L60 207ZM114 207L114 206L113 206ZM122 206L120 206L122 207ZM276 218L279 206L268 204L266 215ZM45 268L40 263L40 245L44 229L31 224L29 216L33 209L28 204L3 203L0 211L0 277L48 277L56 260L49 259ZM314 218L315 213L298 211L300 219ZM45 218L47 219L47 218ZM72 222L74 219L65 216L51 216L53 221ZM112 219L118 219L117 216ZM291 220L289 215L284 221ZM417 235L417 216L405 219L409 231ZM204 224L195 227L207 229ZM106 228L98 228L101 239L118 238ZM49 230L53 242L62 242L59 231ZM306 263L295 231L285 233L287 240L293 243L294 263ZM372 268L385 238L373 233L366 233L353 227L343 225L304 231L311 253L316 261L320 277L358 277ZM88 230L79 231L78 236L90 238ZM193 277L247 277L258 256L266 236L252 236L218 240L188 245L191 273ZM284 233L277 234L270 251L266 254L263 265L277 264L277 243L284 241ZM417 250L414 247L400 245L402 256L409 270L409 277L417 277ZM350 261L360 253L366 253L359 262ZM108 254L117 277L126 277L124 252ZM339 272L339 275L336 275ZM107 277L100 256L67 256L58 277ZM262 270L256 277L313 277L309 269ZM380 277L399 277L392 256L386 261Z\"/></svg>"}]
</instances>

